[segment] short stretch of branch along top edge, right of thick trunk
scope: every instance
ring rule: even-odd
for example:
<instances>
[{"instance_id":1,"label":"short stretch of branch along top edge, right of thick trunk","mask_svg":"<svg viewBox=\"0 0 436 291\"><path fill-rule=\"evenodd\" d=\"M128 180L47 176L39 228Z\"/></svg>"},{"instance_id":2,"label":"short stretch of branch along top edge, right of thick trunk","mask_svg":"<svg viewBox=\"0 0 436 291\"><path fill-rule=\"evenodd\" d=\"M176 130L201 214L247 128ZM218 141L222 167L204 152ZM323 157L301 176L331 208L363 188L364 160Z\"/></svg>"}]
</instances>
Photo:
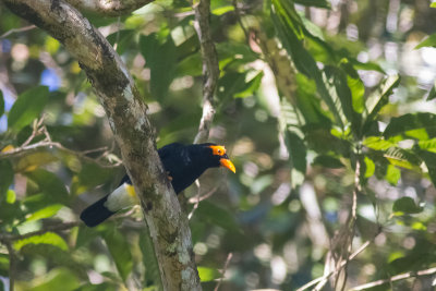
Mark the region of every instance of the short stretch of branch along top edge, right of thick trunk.
<instances>
[{"instance_id":1,"label":"short stretch of branch along top edge, right of thick trunk","mask_svg":"<svg viewBox=\"0 0 436 291\"><path fill-rule=\"evenodd\" d=\"M66 0L66 2L80 11L104 16L121 16L154 2L154 0Z\"/></svg>"}]
</instances>

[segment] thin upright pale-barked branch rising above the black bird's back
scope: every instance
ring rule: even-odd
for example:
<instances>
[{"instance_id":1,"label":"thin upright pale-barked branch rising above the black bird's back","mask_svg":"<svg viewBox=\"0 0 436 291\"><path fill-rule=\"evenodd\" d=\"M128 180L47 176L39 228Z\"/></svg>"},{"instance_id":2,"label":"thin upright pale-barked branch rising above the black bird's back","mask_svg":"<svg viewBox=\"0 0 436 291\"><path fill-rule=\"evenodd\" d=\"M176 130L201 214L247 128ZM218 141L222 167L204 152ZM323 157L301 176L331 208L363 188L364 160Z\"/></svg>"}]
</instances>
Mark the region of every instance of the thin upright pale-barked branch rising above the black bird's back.
<instances>
[{"instance_id":1,"label":"thin upright pale-barked branch rising above the black bird's back","mask_svg":"<svg viewBox=\"0 0 436 291\"><path fill-rule=\"evenodd\" d=\"M204 143L215 117L214 94L219 78L218 56L210 33L210 0L199 0L195 4L195 23L203 58L203 116L194 144Z\"/></svg>"}]
</instances>

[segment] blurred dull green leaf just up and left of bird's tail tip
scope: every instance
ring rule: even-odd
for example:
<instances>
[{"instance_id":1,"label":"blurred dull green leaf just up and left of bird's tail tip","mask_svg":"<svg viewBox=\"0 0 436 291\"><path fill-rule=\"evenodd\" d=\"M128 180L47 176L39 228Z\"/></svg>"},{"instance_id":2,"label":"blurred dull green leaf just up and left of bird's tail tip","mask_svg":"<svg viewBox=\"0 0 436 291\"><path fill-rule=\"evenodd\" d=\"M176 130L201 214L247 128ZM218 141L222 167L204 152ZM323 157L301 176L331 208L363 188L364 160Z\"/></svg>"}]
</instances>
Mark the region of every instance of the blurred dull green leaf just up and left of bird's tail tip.
<instances>
[{"instance_id":1,"label":"blurred dull green leaf just up and left of bird's tail tip","mask_svg":"<svg viewBox=\"0 0 436 291\"><path fill-rule=\"evenodd\" d=\"M39 190L50 197L52 203L66 204L69 202L64 183L52 172L37 169L27 173L27 177L38 184Z\"/></svg>"}]
</instances>

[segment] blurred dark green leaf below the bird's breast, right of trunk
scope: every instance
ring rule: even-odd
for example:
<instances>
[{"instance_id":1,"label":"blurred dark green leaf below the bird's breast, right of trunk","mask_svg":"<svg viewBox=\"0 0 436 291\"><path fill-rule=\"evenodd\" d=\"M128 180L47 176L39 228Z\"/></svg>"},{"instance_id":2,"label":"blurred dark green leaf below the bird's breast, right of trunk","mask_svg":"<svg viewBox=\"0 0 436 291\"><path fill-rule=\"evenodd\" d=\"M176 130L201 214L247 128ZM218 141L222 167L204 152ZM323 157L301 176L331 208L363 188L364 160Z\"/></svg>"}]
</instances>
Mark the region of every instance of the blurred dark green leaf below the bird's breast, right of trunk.
<instances>
[{"instance_id":1,"label":"blurred dark green leaf below the bird's breast, right of trunk","mask_svg":"<svg viewBox=\"0 0 436 291\"><path fill-rule=\"evenodd\" d=\"M199 204L195 214L209 223L219 226L229 231L239 231L239 226L234 217L228 210L216 204L204 201Z\"/></svg>"}]
</instances>

